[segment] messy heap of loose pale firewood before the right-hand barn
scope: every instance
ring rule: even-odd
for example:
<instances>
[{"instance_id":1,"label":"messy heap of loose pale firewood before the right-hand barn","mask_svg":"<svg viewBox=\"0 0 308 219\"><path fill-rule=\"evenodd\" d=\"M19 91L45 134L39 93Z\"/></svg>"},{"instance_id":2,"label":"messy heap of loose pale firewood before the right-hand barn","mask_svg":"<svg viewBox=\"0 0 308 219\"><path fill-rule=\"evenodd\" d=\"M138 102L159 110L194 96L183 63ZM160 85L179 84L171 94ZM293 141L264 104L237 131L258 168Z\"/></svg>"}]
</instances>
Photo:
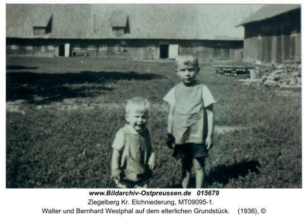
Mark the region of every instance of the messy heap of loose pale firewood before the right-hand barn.
<instances>
[{"instance_id":1,"label":"messy heap of loose pale firewood before the right-hand barn","mask_svg":"<svg viewBox=\"0 0 308 219\"><path fill-rule=\"evenodd\" d=\"M240 80L245 81L244 84L256 82L258 85L271 85L279 87L301 87L301 64L284 63L278 66L265 67L257 66L255 68L256 75L260 79Z\"/></svg>"}]
</instances>

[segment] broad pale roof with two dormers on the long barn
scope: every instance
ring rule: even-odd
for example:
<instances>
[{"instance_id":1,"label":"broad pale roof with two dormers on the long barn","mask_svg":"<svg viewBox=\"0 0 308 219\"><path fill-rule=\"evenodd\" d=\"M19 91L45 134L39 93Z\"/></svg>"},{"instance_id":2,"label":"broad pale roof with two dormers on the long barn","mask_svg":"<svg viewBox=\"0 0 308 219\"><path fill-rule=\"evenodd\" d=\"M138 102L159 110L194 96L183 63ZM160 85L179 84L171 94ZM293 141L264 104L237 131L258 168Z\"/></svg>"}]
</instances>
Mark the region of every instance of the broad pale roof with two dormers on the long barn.
<instances>
[{"instance_id":1,"label":"broad pale roof with two dormers on the long barn","mask_svg":"<svg viewBox=\"0 0 308 219\"><path fill-rule=\"evenodd\" d=\"M244 28L235 26L251 13L251 5L7 4L6 37L119 39L111 27L128 21L121 39L243 40ZM51 15L51 32L34 35Z\"/></svg>"}]
</instances>

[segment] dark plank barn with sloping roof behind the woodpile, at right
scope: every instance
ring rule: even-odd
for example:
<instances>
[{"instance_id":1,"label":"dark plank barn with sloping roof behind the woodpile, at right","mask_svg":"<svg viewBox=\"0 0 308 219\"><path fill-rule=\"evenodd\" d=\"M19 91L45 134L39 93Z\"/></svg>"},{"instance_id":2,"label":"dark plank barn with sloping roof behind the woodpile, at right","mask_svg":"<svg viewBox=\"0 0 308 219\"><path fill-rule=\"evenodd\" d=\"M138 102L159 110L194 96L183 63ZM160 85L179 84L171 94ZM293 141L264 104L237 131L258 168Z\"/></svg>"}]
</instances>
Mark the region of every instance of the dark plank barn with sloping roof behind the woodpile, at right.
<instances>
[{"instance_id":1,"label":"dark plank barn with sloping roof behind the woodpile, at right","mask_svg":"<svg viewBox=\"0 0 308 219\"><path fill-rule=\"evenodd\" d=\"M301 61L301 6L265 5L247 17L243 60L257 64Z\"/></svg>"}]
</instances>

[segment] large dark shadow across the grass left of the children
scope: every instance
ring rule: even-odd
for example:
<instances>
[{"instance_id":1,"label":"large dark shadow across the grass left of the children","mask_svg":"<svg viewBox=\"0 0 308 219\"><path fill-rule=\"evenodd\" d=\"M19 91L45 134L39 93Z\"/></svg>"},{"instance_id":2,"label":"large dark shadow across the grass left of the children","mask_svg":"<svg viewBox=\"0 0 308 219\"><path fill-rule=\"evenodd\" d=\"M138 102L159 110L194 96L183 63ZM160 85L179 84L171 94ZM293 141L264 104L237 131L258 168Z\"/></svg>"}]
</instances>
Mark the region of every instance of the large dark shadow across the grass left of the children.
<instances>
[{"instance_id":1,"label":"large dark shadow across the grass left of the children","mask_svg":"<svg viewBox=\"0 0 308 219\"><path fill-rule=\"evenodd\" d=\"M18 66L15 66L18 67ZM95 97L113 90L105 87L107 83L119 80L151 80L161 78L154 74L136 72L93 72L67 74L37 74L33 72L10 72L6 74L6 101L26 100L35 104L35 96L41 97L37 104L65 98Z\"/></svg>"}]
</instances>

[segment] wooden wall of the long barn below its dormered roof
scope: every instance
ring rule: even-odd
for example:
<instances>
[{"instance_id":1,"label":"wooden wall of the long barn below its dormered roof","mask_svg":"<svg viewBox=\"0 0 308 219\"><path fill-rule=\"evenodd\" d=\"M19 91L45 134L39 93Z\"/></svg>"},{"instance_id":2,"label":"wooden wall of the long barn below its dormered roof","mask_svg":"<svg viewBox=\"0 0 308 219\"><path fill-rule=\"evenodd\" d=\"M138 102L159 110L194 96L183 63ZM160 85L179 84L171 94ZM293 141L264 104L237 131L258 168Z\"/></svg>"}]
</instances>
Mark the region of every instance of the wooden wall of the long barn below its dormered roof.
<instances>
[{"instance_id":1,"label":"wooden wall of the long barn below its dormered roof","mask_svg":"<svg viewBox=\"0 0 308 219\"><path fill-rule=\"evenodd\" d=\"M61 47L70 45L70 54L78 48L86 51L89 57L117 59L160 59L160 44L177 44L179 53L190 51L197 54L200 61L242 59L243 41L218 40L47 40L47 39L7 39L7 56L59 57ZM27 50L27 45L33 45L33 50ZM11 45L17 45L16 50ZM49 50L48 46L54 49ZM101 48L104 47L102 50ZM119 49L119 50L116 50ZM83 55L83 53L79 53Z\"/></svg>"}]
</instances>

